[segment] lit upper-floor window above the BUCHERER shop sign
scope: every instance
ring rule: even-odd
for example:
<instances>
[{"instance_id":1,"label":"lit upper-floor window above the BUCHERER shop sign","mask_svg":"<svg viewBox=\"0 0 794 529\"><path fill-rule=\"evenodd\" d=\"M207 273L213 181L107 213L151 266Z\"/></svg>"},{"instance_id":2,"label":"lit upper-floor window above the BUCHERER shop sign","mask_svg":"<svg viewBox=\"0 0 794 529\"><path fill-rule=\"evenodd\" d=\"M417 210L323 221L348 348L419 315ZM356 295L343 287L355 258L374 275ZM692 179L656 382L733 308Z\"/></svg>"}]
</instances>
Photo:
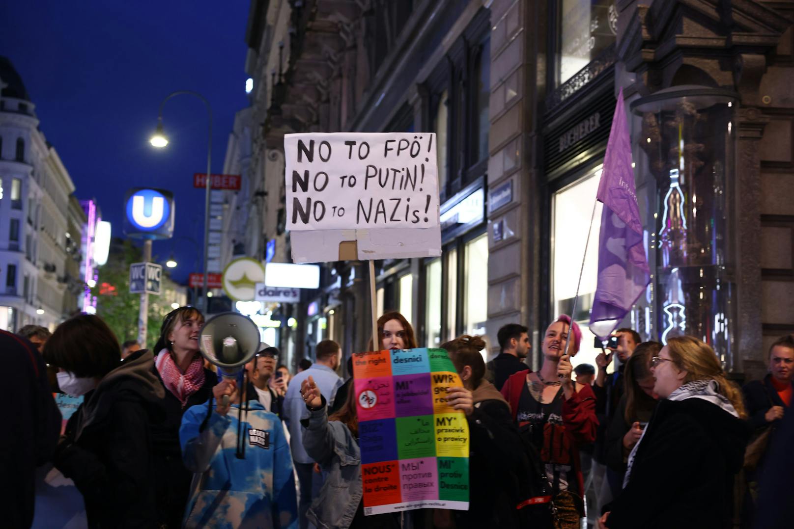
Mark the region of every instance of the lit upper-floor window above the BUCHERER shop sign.
<instances>
[{"instance_id":1,"label":"lit upper-floor window above the BUCHERER shop sign","mask_svg":"<svg viewBox=\"0 0 794 529\"><path fill-rule=\"evenodd\" d=\"M617 24L615 0L557 2L557 85L615 44Z\"/></svg>"}]
</instances>

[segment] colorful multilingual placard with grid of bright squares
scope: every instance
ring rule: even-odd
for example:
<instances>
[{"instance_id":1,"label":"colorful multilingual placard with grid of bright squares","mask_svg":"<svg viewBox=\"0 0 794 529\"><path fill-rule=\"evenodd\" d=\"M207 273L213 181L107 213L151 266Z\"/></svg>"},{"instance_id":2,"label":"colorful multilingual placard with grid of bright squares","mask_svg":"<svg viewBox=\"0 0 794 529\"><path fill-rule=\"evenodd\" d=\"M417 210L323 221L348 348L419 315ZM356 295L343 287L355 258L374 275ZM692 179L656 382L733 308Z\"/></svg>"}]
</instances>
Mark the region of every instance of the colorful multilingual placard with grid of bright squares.
<instances>
[{"instance_id":1,"label":"colorful multilingual placard with grid of bright squares","mask_svg":"<svg viewBox=\"0 0 794 529\"><path fill-rule=\"evenodd\" d=\"M353 355L364 514L468 510L468 424L447 402L463 387L443 349Z\"/></svg>"}]
</instances>

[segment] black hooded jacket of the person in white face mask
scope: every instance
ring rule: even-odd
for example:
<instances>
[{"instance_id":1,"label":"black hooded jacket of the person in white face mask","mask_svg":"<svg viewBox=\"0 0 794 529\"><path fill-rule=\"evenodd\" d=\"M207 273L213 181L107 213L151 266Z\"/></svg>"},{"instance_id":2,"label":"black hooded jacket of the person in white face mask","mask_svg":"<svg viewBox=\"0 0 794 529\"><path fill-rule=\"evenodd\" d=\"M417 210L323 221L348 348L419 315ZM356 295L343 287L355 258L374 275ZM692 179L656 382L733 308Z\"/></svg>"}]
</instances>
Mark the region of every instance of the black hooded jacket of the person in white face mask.
<instances>
[{"instance_id":1,"label":"black hooded jacket of the person in white face mask","mask_svg":"<svg viewBox=\"0 0 794 529\"><path fill-rule=\"evenodd\" d=\"M106 374L67 423L53 456L83 494L89 527L154 527L151 424L163 420L154 358L137 351Z\"/></svg>"}]
</instances>

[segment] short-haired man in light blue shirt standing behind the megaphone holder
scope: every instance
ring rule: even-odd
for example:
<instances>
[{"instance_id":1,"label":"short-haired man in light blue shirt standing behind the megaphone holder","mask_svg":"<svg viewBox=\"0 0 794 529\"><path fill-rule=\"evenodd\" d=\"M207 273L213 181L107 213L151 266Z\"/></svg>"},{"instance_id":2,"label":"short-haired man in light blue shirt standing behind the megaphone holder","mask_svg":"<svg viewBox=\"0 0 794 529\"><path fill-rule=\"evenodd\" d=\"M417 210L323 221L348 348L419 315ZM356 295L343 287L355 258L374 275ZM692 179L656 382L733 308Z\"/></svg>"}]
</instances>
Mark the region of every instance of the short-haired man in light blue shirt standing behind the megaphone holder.
<instances>
[{"instance_id":1,"label":"short-haired man in light blue shirt standing behind the megaphone holder","mask_svg":"<svg viewBox=\"0 0 794 529\"><path fill-rule=\"evenodd\" d=\"M290 448L295 472L298 474L300 496L298 502L298 520L301 529L308 527L306 511L309 510L311 501L318 496L322 485L322 475L314 472L314 459L306 453L303 447L303 434L301 420L309 417L306 402L301 395L300 387L303 381L312 377L325 401L333 404L337 389L342 385L342 379L336 374L341 362L341 348L331 339L324 339L317 344L315 350L317 361L312 366L295 375L287 388L284 397L284 422L290 431Z\"/></svg>"}]
</instances>

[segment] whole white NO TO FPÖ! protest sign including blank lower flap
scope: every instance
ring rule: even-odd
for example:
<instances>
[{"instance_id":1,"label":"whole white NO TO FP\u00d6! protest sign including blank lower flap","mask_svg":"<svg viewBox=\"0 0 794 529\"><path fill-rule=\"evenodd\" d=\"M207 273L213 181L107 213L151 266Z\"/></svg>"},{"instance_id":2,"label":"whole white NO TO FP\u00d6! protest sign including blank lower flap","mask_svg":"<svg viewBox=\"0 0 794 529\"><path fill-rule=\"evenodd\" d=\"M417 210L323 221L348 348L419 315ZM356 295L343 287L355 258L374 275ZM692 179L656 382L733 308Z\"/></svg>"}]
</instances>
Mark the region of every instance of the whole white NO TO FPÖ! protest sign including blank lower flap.
<instances>
[{"instance_id":1,"label":"whole white NO TO FP\u00d6! protest sign including blank lower flap","mask_svg":"<svg viewBox=\"0 0 794 529\"><path fill-rule=\"evenodd\" d=\"M284 136L295 263L441 255L435 141L433 132Z\"/></svg>"}]
</instances>

